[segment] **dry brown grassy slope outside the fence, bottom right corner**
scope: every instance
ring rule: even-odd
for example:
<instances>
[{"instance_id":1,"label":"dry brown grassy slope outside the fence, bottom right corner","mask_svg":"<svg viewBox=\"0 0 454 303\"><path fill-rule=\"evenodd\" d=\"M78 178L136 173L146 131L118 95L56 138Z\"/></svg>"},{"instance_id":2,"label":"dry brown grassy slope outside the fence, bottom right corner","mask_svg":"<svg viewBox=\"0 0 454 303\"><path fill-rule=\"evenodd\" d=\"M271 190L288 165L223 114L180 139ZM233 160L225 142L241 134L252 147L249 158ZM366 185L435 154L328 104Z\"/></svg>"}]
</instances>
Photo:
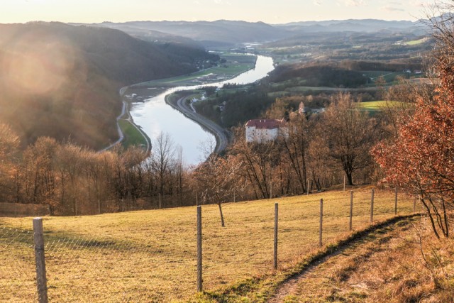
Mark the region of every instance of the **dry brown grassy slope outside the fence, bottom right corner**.
<instances>
[{"instance_id":1,"label":"dry brown grassy slope outside the fence, bottom right corner","mask_svg":"<svg viewBox=\"0 0 454 303\"><path fill-rule=\"evenodd\" d=\"M453 302L454 241L434 239L420 221L354 243L308 272L284 302Z\"/></svg>"}]
</instances>

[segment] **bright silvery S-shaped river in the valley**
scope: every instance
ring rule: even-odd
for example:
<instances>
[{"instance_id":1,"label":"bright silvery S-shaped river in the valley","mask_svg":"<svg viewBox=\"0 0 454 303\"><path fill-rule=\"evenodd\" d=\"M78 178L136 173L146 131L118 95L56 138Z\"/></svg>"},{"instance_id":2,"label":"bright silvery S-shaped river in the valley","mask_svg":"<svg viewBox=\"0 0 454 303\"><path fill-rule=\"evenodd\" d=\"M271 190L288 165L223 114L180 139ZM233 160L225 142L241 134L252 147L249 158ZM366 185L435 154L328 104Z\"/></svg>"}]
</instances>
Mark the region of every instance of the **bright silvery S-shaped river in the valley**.
<instances>
[{"instance_id":1,"label":"bright silvery S-shaped river in the valley","mask_svg":"<svg viewBox=\"0 0 454 303\"><path fill-rule=\"evenodd\" d=\"M271 57L258 55L255 68L238 75L233 79L223 82L209 83L210 86L221 87L226 83L248 84L262 79L268 72L274 70ZM208 85L208 84L205 84ZM197 89L204 85L187 86L187 87L172 87L165 92L151 96L153 89L142 89L140 93L134 95L134 99L143 99L143 102L134 102L131 106L131 117L134 123L140 126L143 131L150 137L152 143L160 133L167 133L172 139L174 146L181 146L182 157L185 165L194 165L202 160L203 153L200 150L200 145L206 141L214 141L214 136L205 131L199 124L188 119L179 111L173 109L165 103L165 96L184 89ZM142 94L142 95L140 95Z\"/></svg>"}]
</instances>

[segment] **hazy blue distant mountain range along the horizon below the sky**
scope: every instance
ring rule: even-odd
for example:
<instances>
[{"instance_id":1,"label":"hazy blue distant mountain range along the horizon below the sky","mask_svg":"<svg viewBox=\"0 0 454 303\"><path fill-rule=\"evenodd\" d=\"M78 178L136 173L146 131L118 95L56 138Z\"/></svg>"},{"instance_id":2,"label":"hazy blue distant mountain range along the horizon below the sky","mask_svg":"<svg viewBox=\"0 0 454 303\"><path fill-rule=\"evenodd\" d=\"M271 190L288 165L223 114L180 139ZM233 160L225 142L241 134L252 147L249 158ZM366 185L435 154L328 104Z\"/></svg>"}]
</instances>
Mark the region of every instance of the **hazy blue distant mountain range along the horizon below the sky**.
<instances>
[{"instance_id":1,"label":"hazy blue distant mountain range along the horizon below the sky","mask_svg":"<svg viewBox=\"0 0 454 303\"><path fill-rule=\"evenodd\" d=\"M425 26L418 22L375 19L303 21L274 25L226 20L104 22L86 25L116 28L144 40L194 43L205 47L270 42L304 33L404 31L421 35L426 31Z\"/></svg>"}]
</instances>

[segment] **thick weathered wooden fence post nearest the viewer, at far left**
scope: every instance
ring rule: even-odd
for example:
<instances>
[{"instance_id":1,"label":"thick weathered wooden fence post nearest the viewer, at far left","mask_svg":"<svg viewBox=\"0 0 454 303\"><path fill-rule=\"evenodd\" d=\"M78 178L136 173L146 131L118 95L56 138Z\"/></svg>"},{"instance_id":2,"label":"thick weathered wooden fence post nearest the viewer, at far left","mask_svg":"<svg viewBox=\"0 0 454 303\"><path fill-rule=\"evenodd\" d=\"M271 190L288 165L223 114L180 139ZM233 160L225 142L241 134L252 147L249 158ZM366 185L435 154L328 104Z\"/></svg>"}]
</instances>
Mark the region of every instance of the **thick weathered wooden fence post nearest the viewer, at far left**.
<instances>
[{"instance_id":1,"label":"thick weathered wooden fence post nearest the viewer, at far left","mask_svg":"<svg viewBox=\"0 0 454 303\"><path fill-rule=\"evenodd\" d=\"M43 238L43 219L33 219L33 240L35 242L36 286L38 288L38 302L48 302L48 286L45 276L45 256Z\"/></svg>"}]
</instances>

